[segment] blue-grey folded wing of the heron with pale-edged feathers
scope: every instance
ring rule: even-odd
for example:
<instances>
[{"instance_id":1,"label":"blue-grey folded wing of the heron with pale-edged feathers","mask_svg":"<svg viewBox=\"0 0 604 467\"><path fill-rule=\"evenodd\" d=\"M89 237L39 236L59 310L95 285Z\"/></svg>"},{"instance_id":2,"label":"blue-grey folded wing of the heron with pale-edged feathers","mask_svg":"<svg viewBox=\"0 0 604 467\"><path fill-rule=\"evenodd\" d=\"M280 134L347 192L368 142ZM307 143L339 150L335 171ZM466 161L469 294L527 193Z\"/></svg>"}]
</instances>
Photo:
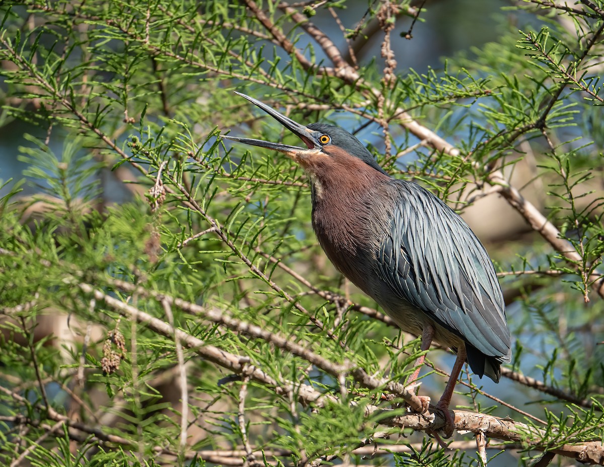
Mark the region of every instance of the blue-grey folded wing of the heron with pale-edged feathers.
<instances>
[{"instance_id":1,"label":"blue-grey folded wing of the heron with pale-edged feathers","mask_svg":"<svg viewBox=\"0 0 604 467\"><path fill-rule=\"evenodd\" d=\"M505 304L480 240L419 185L396 180L387 190L396 208L379 251L382 279L484 355L509 361Z\"/></svg>"}]
</instances>

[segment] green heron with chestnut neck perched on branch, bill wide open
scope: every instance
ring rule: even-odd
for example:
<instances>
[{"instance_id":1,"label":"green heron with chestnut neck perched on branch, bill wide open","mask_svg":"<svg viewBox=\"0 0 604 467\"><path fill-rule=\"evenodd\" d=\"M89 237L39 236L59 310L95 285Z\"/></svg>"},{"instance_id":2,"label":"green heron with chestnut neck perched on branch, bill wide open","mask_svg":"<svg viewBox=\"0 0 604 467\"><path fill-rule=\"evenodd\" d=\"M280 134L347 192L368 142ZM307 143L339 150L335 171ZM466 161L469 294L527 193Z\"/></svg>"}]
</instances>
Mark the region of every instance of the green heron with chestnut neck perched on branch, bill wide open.
<instances>
[{"instance_id":1,"label":"green heron with chestnut neck perched on branch, bill wide open","mask_svg":"<svg viewBox=\"0 0 604 467\"><path fill-rule=\"evenodd\" d=\"M495 268L480 240L439 198L388 175L349 132L326 123L303 126L237 92L291 130L306 147L250 138L233 141L285 153L309 176L312 227L338 271L375 300L406 332L457 352L436 405L452 432L449 404L461 367L499 382L512 351ZM407 383L415 381L425 352ZM422 402L427 407L428 398Z\"/></svg>"}]
</instances>

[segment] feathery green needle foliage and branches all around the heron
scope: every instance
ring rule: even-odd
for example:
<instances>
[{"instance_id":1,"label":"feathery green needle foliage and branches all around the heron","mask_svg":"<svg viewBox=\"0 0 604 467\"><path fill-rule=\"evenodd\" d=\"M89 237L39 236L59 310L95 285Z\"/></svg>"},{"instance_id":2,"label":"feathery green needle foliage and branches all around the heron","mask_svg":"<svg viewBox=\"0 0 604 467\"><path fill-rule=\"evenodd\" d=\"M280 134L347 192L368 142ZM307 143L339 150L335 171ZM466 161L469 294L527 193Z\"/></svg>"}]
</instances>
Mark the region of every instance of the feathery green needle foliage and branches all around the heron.
<instances>
[{"instance_id":1,"label":"feathery green needle foliage and branches all around the heron","mask_svg":"<svg viewBox=\"0 0 604 467\"><path fill-rule=\"evenodd\" d=\"M400 45L428 53L440 4L416 3L0 4L1 465L602 462L604 5L510 2L419 71ZM300 144L234 91L354 131L487 243L513 359L462 373L452 450L303 170L220 137ZM452 360L426 361L435 401Z\"/></svg>"}]
</instances>

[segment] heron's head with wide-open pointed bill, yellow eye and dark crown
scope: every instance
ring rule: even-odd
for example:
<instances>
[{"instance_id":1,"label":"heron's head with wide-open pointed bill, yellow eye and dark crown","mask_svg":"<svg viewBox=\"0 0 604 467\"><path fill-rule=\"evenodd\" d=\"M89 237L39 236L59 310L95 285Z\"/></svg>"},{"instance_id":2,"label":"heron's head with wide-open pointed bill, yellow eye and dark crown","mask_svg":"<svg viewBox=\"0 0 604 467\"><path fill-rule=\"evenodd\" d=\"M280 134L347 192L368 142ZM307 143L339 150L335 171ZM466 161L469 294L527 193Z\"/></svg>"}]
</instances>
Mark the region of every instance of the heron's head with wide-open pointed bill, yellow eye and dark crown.
<instances>
[{"instance_id":1,"label":"heron's head with wide-open pointed bill, yellow eye and dark crown","mask_svg":"<svg viewBox=\"0 0 604 467\"><path fill-rule=\"evenodd\" d=\"M350 163L350 158L352 157L381 173L385 173L361 141L357 140L346 130L327 123L311 123L308 126L304 126L253 97L249 97L241 92L237 92L236 94L245 97L251 103L254 103L267 114L271 115L271 117L297 135L306 144L306 147L288 146L287 144L254 140L252 138L231 136L223 136L223 138L282 152L300 164L307 172L316 172L318 167L333 165L336 162L345 164L347 159ZM352 159L352 161L355 159Z\"/></svg>"}]
</instances>

